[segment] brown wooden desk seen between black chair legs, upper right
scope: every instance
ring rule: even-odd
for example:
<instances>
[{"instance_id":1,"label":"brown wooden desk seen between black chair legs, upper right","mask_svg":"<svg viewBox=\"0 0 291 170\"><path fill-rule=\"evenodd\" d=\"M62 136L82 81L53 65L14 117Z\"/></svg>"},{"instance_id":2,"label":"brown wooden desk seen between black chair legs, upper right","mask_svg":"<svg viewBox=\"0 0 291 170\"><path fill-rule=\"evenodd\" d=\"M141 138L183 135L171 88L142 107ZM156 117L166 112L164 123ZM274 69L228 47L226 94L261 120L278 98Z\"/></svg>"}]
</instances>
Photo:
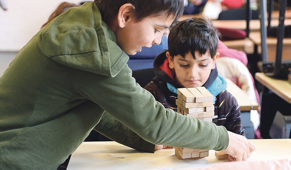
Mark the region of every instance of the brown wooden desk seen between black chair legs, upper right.
<instances>
[{"instance_id":1,"label":"brown wooden desk seen between black chair legs, upper right","mask_svg":"<svg viewBox=\"0 0 291 170\"><path fill-rule=\"evenodd\" d=\"M257 46L257 50L255 50L255 52L261 53L260 32L250 32L249 38L254 42L255 46ZM267 45L268 45L268 61L274 62L276 58L277 38L267 37ZM291 59L290 54L291 54L291 38L284 38L282 60L290 60Z\"/></svg>"}]
</instances>

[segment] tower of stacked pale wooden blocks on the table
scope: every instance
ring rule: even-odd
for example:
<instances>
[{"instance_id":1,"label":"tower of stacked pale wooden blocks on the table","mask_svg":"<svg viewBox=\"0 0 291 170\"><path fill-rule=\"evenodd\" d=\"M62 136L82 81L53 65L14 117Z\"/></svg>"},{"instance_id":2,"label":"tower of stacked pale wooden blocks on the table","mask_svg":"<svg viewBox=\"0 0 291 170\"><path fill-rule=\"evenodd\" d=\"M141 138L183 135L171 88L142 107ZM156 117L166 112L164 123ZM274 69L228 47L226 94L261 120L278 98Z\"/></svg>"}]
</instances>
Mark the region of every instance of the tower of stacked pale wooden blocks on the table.
<instances>
[{"instance_id":1,"label":"tower of stacked pale wooden blocks on the table","mask_svg":"<svg viewBox=\"0 0 291 170\"><path fill-rule=\"evenodd\" d=\"M214 116L213 95L205 87L179 88L176 100L177 112L183 115L212 122ZM179 159L206 157L208 150L175 148Z\"/></svg>"}]
</instances>

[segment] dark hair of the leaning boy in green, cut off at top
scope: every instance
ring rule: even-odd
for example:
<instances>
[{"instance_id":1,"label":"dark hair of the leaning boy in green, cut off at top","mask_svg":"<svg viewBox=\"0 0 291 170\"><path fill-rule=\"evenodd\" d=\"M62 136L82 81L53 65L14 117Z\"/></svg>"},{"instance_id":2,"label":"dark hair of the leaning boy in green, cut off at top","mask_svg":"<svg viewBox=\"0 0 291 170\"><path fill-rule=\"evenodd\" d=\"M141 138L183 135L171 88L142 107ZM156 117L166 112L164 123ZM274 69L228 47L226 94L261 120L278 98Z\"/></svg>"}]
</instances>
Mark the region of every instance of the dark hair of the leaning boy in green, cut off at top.
<instances>
[{"instance_id":1,"label":"dark hair of the leaning boy in green, cut off at top","mask_svg":"<svg viewBox=\"0 0 291 170\"><path fill-rule=\"evenodd\" d=\"M184 11L184 0L94 0L102 20L111 22L118 14L119 8L125 3L131 3L134 19L138 22L149 15L160 15L166 12L167 17L173 17L174 22Z\"/></svg>"}]
</instances>

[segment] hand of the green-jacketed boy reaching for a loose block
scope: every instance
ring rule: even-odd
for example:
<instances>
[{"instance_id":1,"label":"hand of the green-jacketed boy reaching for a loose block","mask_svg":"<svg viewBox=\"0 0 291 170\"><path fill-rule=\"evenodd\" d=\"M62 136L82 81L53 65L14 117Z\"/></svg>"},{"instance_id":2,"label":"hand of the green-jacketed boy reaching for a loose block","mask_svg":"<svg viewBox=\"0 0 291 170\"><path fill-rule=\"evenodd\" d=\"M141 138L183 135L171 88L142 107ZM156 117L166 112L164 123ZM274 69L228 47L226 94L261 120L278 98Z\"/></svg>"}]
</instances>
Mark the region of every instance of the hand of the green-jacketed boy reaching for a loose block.
<instances>
[{"instance_id":1,"label":"hand of the green-jacketed boy reaching for a loose block","mask_svg":"<svg viewBox=\"0 0 291 170\"><path fill-rule=\"evenodd\" d=\"M245 161L255 151L256 147L242 135L228 132L229 144L223 151L228 154L228 159L231 161Z\"/></svg>"}]
</instances>

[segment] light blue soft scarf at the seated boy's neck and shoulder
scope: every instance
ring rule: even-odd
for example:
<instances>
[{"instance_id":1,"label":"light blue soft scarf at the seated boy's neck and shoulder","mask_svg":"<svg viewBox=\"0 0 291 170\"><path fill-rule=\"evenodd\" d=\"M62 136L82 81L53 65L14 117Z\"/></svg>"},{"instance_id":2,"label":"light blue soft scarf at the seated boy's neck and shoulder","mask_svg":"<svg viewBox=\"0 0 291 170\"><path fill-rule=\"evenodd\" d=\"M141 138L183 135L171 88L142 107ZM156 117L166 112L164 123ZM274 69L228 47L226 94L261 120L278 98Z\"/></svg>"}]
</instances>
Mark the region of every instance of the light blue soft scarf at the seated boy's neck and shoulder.
<instances>
[{"instance_id":1,"label":"light blue soft scarf at the seated boy's neck and shoulder","mask_svg":"<svg viewBox=\"0 0 291 170\"><path fill-rule=\"evenodd\" d=\"M169 91L178 94L177 92L177 88L175 86L173 86L170 83L167 83L167 87L169 89ZM224 79L224 77L222 77L221 75L218 74L218 76L216 77L216 79L213 81L213 83L209 86L209 88L207 88L207 90L213 95L213 104L215 104L215 98L218 94L222 93L223 91L226 90L227 87L227 82Z\"/></svg>"}]
</instances>

